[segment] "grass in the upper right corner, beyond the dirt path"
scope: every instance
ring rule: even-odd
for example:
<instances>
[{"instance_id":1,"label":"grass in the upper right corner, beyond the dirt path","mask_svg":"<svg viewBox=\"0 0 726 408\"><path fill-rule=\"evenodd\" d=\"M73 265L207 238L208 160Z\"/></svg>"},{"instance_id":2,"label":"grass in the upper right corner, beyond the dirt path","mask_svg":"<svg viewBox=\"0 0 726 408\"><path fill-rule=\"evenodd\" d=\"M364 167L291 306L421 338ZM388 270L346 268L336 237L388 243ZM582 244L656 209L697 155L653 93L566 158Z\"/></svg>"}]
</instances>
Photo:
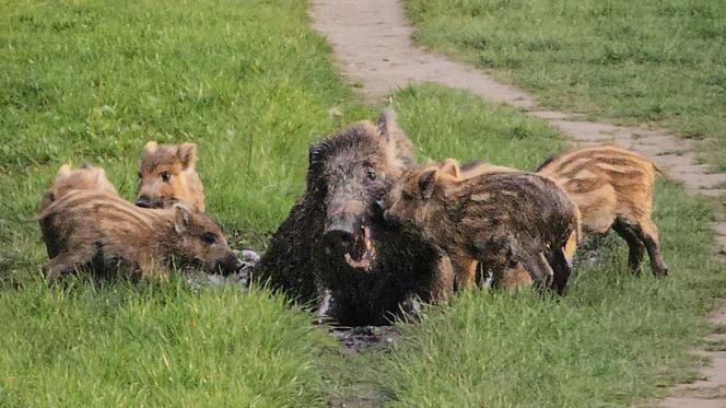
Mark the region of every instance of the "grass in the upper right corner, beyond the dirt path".
<instances>
[{"instance_id":1,"label":"grass in the upper right corner, beyond the dirt path","mask_svg":"<svg viewBox=\"0 0 726 408\"><path fill-rule=\"evenodd\" d=\"M406 0L418 43L546 106L648 123L726 168L726 9L710 0Z\"/></svg>"}]
</instances>

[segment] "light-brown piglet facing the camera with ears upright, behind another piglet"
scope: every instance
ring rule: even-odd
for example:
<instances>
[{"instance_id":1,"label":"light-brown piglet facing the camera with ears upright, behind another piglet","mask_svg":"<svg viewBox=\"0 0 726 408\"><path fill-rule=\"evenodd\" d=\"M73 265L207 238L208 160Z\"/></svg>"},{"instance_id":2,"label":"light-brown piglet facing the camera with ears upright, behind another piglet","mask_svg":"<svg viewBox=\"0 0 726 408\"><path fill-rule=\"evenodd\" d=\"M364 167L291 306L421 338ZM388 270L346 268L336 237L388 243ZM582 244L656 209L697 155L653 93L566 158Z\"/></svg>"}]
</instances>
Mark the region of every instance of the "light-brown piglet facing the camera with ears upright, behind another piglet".
<instances>
[{"instance_id":1,"label":"light-brown piglet facing the camera with ears upright, behind another piglet","mask_svg":"<svg viewBox=\"0 0 726 408\"><path fill-rule=\"evenodd\" d=\"M195 143L156 144L150 141L143 149L139 167L139 194L136 205L165 208L184 202L204 211L204 193L195 168Z\"/></svg>"}]
</instances>

